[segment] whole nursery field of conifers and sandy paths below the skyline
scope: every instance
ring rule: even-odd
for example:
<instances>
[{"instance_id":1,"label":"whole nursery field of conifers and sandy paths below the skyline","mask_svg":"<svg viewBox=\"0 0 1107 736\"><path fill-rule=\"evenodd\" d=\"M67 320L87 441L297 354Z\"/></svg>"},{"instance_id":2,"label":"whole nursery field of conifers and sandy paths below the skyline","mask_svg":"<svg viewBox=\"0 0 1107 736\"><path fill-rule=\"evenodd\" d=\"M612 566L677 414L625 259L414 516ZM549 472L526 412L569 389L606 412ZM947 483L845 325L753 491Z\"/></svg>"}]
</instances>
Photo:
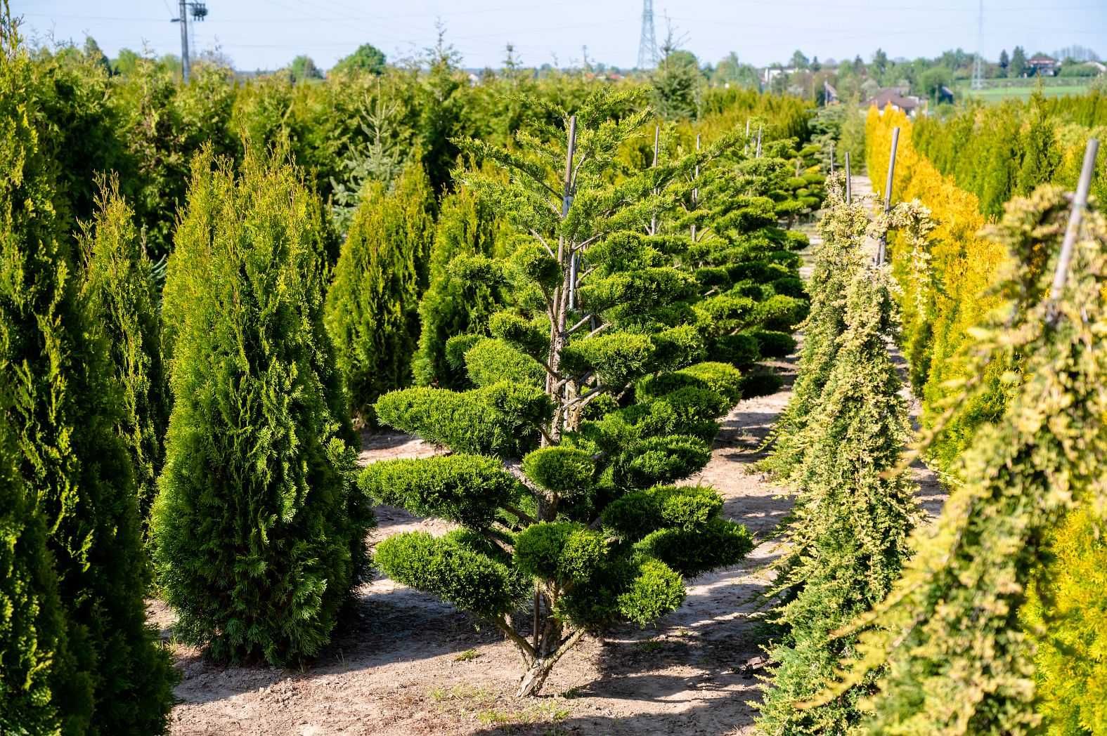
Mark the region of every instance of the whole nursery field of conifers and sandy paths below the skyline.
<instances>
[{"instance_id":1,"label":"whole nursery field of conifers and sandy paths below the skyline","mask_svg":"<svg viewBox=\"0 0 1107 736\"><path fill-rule=\"evenodd\" d=\"M1107 734L1101 92L2 7L3 736Z\"/></svg>"}]
</instances>

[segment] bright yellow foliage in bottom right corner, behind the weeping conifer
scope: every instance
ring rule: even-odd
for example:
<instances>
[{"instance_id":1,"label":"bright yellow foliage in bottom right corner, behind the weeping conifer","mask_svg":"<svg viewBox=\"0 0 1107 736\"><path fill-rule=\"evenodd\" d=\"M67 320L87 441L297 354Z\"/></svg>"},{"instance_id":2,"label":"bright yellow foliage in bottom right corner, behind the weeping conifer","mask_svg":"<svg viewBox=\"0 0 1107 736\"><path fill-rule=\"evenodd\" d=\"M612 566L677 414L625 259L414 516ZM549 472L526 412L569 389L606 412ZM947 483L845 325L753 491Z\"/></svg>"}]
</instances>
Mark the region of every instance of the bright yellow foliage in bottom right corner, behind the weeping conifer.
<instances>
[{"instance_id":1,"label":"bright yellow foliage in bottom right corner, behind the weeping conifer","mask_svg":"<svg viewBox=\"0 0 1107 736\"><path fill-rule=\"evenodd\" d=\"M1107 520L1089 506L1049 539L1023 623L1037 645L1038 712L1049 736L1107 733Z\"/></svg>"}]
</instances>

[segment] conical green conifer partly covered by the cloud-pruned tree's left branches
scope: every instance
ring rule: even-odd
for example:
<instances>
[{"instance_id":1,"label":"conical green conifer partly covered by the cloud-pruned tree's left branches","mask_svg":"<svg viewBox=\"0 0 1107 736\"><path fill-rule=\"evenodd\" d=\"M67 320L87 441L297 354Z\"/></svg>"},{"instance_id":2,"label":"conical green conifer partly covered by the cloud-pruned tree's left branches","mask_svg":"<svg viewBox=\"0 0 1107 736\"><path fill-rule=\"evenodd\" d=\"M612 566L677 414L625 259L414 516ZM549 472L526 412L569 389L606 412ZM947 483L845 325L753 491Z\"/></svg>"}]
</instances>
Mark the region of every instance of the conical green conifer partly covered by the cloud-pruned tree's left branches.
<instances>
[{"instance_id":1,"label":"conical green conifer partly covered by the cloud-pruned tree's left branches","mask_svg":"<svg viewBox=\"0 0 1107 736\"><path fill-rule=\"evenodd\" d=\"M496 216L490 203L459 189L439 208L431 247L430 286L420 301L418 353L412 364L415 383L443 388L465 387L464 370L452 366L446 342L462 334L487 334L488 318L503 305L499 284L465 282L451 271L468 256L497 256Z\"/></svg>"}]
</instances>

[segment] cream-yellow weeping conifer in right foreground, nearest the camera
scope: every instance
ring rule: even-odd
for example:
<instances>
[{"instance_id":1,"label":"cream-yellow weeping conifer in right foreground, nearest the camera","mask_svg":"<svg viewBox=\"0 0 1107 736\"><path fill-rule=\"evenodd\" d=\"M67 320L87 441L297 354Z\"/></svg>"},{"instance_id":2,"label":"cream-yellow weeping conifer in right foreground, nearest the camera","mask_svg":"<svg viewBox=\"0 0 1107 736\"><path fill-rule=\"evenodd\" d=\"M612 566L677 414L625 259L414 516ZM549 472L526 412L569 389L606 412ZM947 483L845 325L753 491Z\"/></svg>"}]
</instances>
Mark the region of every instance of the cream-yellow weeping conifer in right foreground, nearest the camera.
<instances>
[{"instance_id":1,"label":"cream-yellow weeping conifer in right foreground, nearest the camera","mask_svg":"<svg viewBox=\"0 0 1107 736\"><path fill-rule=\"evenodd\" d=\"M1000 736L1042 726L1034 643L1020 610L1066 515L1085 507L1101 522L1107 508L1107 225L1087 212L1054 301L1055 269L1042 266L1059 250L1068 209L1059 188L1042 187L1008 204L992 230L1011 248L1000 293L1013 309L975 330L968 374L1014 352L1022 375L1008 376L1015 388L1002 419L976 429L955 468L961 484L937 528L915 533L918 552L902 579L840 632L863 631L861 660L826 697L884 668L879 691L862 704L872 713L865 733ZM982 384L966 384L954 407Z\"/></svg>"}]
</instances>

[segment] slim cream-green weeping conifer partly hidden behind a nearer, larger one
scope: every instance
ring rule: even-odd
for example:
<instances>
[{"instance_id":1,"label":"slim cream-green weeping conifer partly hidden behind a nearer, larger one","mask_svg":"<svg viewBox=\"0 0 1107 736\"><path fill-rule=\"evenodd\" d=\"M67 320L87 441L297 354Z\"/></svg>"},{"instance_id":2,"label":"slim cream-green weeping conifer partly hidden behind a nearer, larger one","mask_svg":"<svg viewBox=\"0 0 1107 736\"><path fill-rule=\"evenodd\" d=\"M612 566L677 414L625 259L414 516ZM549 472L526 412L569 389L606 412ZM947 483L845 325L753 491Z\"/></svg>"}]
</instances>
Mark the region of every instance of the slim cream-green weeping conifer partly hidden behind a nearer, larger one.
<instances>
[{"instance_id":1,"label":"slim cream-green weeping conifer partly hidden behind a nearer, larger one","mask_svg":"<svg viewBox=\"0 0 1107 736\"><path fill-rule=\"evenodd\" d=\"M792 398L777 422L772 454L762 467L788 478L799 466L799 436L819 404L846 330L846 291L865 260L861 245L869 218L860 201L847 204L844 177L830 179L827 210L819 221L823 245L815 251L809 290L811 309L801 329L804 346Z\"/></svg>"}]
</instances>

